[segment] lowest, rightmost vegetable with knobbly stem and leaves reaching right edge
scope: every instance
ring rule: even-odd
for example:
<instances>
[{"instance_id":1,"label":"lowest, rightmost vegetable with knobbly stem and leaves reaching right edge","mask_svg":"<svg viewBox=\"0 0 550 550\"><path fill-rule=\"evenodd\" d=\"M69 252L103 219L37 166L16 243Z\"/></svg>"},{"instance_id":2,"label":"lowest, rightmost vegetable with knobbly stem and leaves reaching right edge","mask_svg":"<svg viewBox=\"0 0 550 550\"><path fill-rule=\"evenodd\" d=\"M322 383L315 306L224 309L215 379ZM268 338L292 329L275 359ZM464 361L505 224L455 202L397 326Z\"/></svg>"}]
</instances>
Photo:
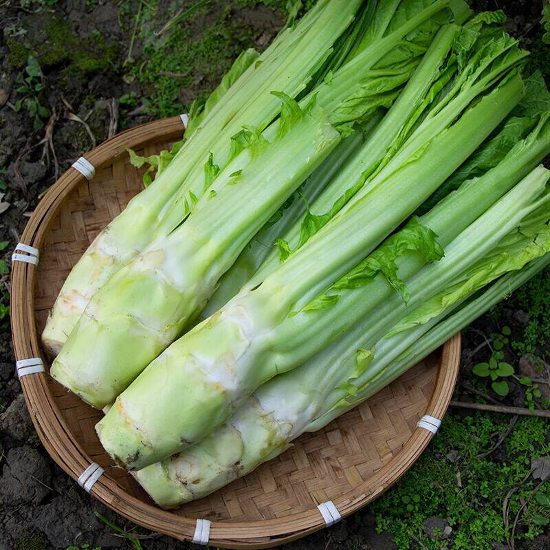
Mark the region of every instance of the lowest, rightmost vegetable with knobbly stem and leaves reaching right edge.
<instances>
[{"instance_id":1,"label":"lowest, rightmost vegetable with knobbly stem and leaves reaching right edge","mask_svg":"<svg viewBox=\"0 0 550 550\"><path fill-rule=\"evenodd\" d=\"M456 186L457 179L462 178L463 184L459 191L452 192L430 214L421 218L421 223L435 228L438 223L450 225L455 234L460 232L544 157L550 140L550 112L530 115L533 109L529 109L529 104L537 104L543 108L549 107L550 102L540 75L531 78L529 83L530 93L524 105L518 109L518 114L523 116L511 116L498 135L492 137L480 151L456 170L444 187ZM541 84L544 93L539 93ZM521 140L529 129L533 131ZM488 170L489 168L492 169ZM465 177L472 173L481 177L465 181ZM547 172L539 168L533 172L531 179L537 179L537 176L544 181L547 179ZM489 208L472 223L472 227L460 239L455 239L456 242L450 245L450 253L445 260L447 265L455 260L449 257L450 254L456 254L459 250L464 254L465 249L462 247L473 249L470 251L473 260L478 241L483 242L483 236L491 232L495 219L502 220L507 216L506 201L508 204L513 203L518 195L525 198L522 195L525 184L530 182L531 180L527 180L517 186L513 194ZM544 210L542 213L544 214ZM545 214L547 218L550 217L548 208ZM510 225L507 224L508 227ZM544 224L540 225L543 231L547 231ZM499 228L499 232L502 234L502 228ZM548 241L541 241L531 246L533 231L529 233L531 237L527 239L527 246L509 243L504 250L494 249L492 254L485 256L483 261L463 272L458 278L453 278L451 283L445 265L443 268L439 264L426 267L422 275L419 274L410 283L407 282L408 293L412 296L422 294L428 284L426 281L431 283L434 278L438 278L438 286L443 291L434 294L431 300L426 301L426 305L406 307L394 293L393 299L386 300L386 303L358 322L331 347L318 353L298 369L278 375L261 386L227 423L214 430L206 439L170 459L135 472L135 477L157 503L163 507L175 507L205 496L283 452L288 443L301 432L321 428L337 415L378 391L503 298L510 289L514 289L547 265L550 262L550 253L545 254L541 261L531 261L528 267L522 267L524 263L547 250L550 244ZM394 236L390 241L405 241L405 231L401 235L402 239ZM474 241L470 240L472 235L475 237ZM509 237L508 241L510 240ZM392 248L388 242L371 255L371 261L373 256L377 256L379 260L386 256L391 261L393 255L395 247ZM403 272L403 268L414 255L412 250L401 251L395 259L399 273ZM476 288L487 285L507 270L520 271L518 274L501 276L498 283L491 285L489 290L484 290L481 298L476 297L469 304L464 304L465 295L472 296ZM364 276L368 279L367 274L364 273ZM457 283L458 280L461 281ZM384 275L373 274L365 289L380 292L380 286L384 284L388 286ZM351 295L353 294L355 293L352 291ZM418 303L419 298L415 301ZM461 307L459 312L453 312L452 316L441 320L457 306ZM333 307L342 307L342 303ZM406 319L390 329L394 320L407 311L410 312L406 314ZM345 308L340 314L345 314ZM430 329L436 322L437 328ZM428 329L429 333L422 336ZM385 331L389 331L388 338L380 339ZM390 336L394 332L397 334ZM401 356L395 359L399 353Z\"/></svg>"}]
</instances>

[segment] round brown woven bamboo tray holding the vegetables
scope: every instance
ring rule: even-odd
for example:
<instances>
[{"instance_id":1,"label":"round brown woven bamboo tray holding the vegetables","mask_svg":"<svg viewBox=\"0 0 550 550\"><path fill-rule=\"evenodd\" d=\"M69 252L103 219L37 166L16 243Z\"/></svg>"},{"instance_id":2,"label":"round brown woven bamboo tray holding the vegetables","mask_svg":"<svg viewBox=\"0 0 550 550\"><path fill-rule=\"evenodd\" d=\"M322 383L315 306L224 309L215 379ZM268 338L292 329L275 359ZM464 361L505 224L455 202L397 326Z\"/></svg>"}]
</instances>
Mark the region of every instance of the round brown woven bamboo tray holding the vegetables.
<instances>
[{"instance_id":1,"label":"round brown woven bamboo tray holding the vegetables","mask_svg":"<svg viewBox=\"0 0 550 550\"><path fill-rule=\"evenodd\" d=\"M133 477L102 450L94 425L102 412L80 401L47 373L41 349L47 312L65 277L96 234L142 188L122 145L151 155L181 139L181 118L150 122L116 135L93 151L88 181L74 168L52 186L23 232L39 249L38 265L12 267L12 333L17 360L42 358L46 372L21 376L36 431L52 458L75 479L104 468L91 494L134 522L192 540L197 519L210 520L212 546L267 548L325 527L317 506L332 500L341 516L371 502L408 470L432 438L418 428L423 415L441 419L460 358L460 335L364 404L314 434L303 434L281 456L207 498L176 511L156 507Z\"/></svg>"}]
</instances>

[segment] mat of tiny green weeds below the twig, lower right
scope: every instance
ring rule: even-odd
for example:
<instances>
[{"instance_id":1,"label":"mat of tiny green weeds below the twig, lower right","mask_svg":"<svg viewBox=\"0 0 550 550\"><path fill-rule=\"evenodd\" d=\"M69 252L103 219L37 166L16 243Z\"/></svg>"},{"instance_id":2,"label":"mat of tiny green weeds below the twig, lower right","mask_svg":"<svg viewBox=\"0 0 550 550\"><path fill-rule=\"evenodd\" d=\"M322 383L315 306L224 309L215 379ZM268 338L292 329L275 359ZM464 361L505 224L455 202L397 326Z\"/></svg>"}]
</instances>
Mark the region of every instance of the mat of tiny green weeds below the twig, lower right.
<instances>
[{"instance_id":1,"label":"mat of tiny green weeds below the twig, lower right","mask_svg":"<svg viewBox=\"0 0 550 550\"><path fill-rule=\"evenodd\" d=\"M521 503L540 482L529 474L531 464L540 458L550 460L550 445L545 443L547 419L525 417L520 417L505 439L503 461L494 461L490 454L478 457L500 439L508 421L502 415L487 417L483 413L464 418L446 415L415 466L369 505L378 529L392 531L399 550L418 547L411 533L424 548L439 550L442 542L431 540L422 527L426 518L439 516L452 527L453 549L490 550L496 542L507 544ZM505 498L514 488L503 514ZM544 532L550 483L542 489L522 510L516 542L533 540Z\"/></svg>"}]
</instances>

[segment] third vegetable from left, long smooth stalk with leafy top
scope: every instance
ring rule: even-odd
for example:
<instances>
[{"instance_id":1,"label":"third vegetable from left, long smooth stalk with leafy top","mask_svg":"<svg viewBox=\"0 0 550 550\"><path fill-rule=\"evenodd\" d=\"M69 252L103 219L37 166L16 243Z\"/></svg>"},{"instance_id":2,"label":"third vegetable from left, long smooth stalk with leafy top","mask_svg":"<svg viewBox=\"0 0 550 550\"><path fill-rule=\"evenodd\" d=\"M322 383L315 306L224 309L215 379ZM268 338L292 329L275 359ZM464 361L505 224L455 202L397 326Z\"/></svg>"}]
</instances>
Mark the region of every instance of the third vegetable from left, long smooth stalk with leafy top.
<instances>
[{"instance_id":1,"label":"third vegetable from left, long smooth stalk with leafy top","mask_svg":"<svg viewBox=\"0 0 550 550\"><path fill-rule=\"evenodd\" d=\"M140 469L199 441L257 387L326 347L382 301L385 296L377 300L367 293L372 299L353 300L344 315L334 314L337 310L327 306L339 301L338 296L322 293L404 221L522 96L520 77L508 71L512 60L521 57L513 41L505 35L496 40L483 32L477 36L467 74L477 69L474 82L480 74L489 74L492 91L482 92L463 111L460 91L467 89L468 79L459 74L458 89L448 92L454 100L445 101L444 96L443 109L418 125L399 150L408 153L399 168L350 201L261 284L241 291L153 361L98 423L102 444L115 461ZM496 52L503 55L495 61ZM500 74L499 62L504 65ZM458 120L443 124L426 142L430 128L451 111L452 120ZM452 157L447 155L451 148ZM365 219L369 223L362 223ZM426 231L420 226L421 234ZM438 250L426 246L422 252L429 260ZM164 395L163 403L153 405L153 395ZM167 402L170 408L163 406Z\"/></svg>"}]
</instances>

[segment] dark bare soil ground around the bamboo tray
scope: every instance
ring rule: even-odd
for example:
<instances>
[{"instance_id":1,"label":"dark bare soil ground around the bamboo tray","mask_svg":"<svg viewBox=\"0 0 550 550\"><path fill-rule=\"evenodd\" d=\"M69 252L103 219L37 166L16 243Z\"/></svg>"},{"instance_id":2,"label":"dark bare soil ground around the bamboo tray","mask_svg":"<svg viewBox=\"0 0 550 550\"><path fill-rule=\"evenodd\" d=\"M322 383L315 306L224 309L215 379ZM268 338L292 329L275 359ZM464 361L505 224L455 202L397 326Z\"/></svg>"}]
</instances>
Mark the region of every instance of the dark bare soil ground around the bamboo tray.
<instances>
[{"instance_id":1,"label":"dark bare soil ground around the bamboo tray","mask_svg":"<svg viewBox=\"0 0 550 550\"><path fill-rule=\"evenodd\" d=\"M281 12L261 5L225 4L234 28L250 30L245 38L232 36L238 44L265 47L284 23ZM121 5L127 6L125 11ZM475 7L503 8L509 16L510 32L524 36L529 47L540 20L539 0L478 0ZM38 8L43 9L36 11ZM0 242L10 243L0 254L7 265L39 197L63 170L94 144L107 139L109 127L120 131L158 117L158 113L140 109L139 99L148 96L148 86L137 78L124 78L128 72L123 64L129 50L134 64L140 63L144 52L139 33L131 47L131 15L137 9L137 1L0 1L0 181L5 182L4 188L0 185ZM158 21L165 20L168 10L163 9L159 8ZM208 15L190 32L201 32L200 25L206 23ZM17 101L25 97L24 92L17 91L24 85L21 75L28 63L25 44L30 44L32 51L40 50L45 60L41 64L43 78L32 81L44 88L26 95L31 102L36 100L35 107L23 102L17 109ZM222 74L223 69L218 69L214 74L196 75L181 86L177 101L188 104L212 89ZM120 101L124 96L130 98L126 103ZM132 104L132 97L137 98L136 104ZM7 288L8 275L0 277ZM525 325L525 315L525 311L505 310L501 318L482 318L473 326L488 335L503 323ZM472 397L461 384L472 372L472 354L479 342L475 331L465 334L461 380L455 396L461 400ZM11 335L6 327L0 330L0 399L0 550L66 549L85 544L90 549L132 547L127 538L98 520L94 511L124 529L130 529L131 523L85 494L43 449L14 374ZM505 402L523 406L524 401L521 388L513 386ZM364 511L359 515L360 521L344 520L283 548L397 549L392 533L377 532L372 514ZM143 537L141 542L147 550L190 547L155 533ZM523 549L550 548L546 536L526 544Z\"/></svg>"}]
</instances>

